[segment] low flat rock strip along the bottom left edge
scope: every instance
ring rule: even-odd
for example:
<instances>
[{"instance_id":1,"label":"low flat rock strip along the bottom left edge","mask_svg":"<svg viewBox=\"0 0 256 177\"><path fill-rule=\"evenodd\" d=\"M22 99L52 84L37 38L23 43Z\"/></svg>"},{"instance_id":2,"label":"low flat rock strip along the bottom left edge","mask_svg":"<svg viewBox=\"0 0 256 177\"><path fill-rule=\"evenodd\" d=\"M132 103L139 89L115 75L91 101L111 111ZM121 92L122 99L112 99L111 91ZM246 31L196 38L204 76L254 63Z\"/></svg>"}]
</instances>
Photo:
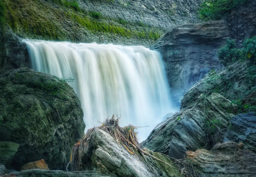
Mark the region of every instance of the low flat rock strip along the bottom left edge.
<instances>
[{"instance_id":1,"label":"low flat rock strip along the bottom left edge","mask_svg":"<svg viewBox=\"0 0 256 177\"><path fill-rule=\"evenodd\" d=\"M14 177L109 177L109 175L98 174L95 171L60 171L60 170L43 170L43 169L29 169L16 173L11 173ZM3 175L3 177L12 177Z\"/></svg>"}]
</instances>

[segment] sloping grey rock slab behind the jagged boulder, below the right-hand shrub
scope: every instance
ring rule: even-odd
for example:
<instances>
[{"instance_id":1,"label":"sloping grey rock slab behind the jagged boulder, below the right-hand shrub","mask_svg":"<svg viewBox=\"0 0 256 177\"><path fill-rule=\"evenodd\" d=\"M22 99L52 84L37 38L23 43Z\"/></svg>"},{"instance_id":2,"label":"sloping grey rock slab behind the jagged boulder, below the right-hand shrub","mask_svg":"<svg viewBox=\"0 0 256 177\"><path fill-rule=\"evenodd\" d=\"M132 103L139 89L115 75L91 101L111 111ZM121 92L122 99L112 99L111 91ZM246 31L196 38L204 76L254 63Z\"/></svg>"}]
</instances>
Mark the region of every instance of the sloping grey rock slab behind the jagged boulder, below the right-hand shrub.
<instances>
[{"instance_id":1,"label":"sloping grey rock slab behind the jagged boulder, below the right-hand shrub","mask_svg":"<svg viewBox=\"0 0 256 177\"><path fill-rule=\"evenodd\" d=\"M181 109L185 110L193 107L194 101L202 93L210 95L213 92L220 93L230 101L240 99L242 105L255 105L256 82L249 84L247 78L249 66L248 61L238 61L222 68L212 76L201 79L185 93Z\"/></svg>"}]
</instances>

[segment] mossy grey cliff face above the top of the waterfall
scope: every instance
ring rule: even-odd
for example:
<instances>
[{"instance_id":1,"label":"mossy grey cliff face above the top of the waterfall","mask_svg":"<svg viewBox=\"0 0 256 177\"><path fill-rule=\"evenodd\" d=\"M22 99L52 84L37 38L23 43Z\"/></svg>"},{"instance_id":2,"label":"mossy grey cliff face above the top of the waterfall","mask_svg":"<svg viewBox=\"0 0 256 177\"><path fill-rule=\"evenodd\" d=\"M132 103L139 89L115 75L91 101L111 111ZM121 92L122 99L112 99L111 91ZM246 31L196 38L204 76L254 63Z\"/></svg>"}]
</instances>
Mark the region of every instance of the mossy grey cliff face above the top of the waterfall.
<instances>
[{"instance_id":1,"label":"mossy grey cliff face above the top of the waterfall","mask_svg":"<svg viewBox=\"0 0 256 177\"><path fill-rule=\"evenodd\" d=\"M195 21L202 0L1 0L23 38L149 46L172 26Z\"/></svg>"}]
</instances>

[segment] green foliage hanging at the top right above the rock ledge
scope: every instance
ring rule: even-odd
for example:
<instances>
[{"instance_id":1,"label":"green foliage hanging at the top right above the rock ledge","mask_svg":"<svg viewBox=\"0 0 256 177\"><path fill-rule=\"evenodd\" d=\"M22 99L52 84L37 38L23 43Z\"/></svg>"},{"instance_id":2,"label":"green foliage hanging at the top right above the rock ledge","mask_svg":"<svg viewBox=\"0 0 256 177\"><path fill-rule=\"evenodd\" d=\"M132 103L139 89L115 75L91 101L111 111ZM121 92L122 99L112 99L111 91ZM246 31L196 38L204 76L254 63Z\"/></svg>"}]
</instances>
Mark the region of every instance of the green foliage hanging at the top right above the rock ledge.
<instances>
[{"instance_id":1,"label":"green foliage hanging at the top right above the rock ledge","mask_svg":"<svg viewBox=\"0 0 256 177\"><path fill-rule=\"evenodd\" d=\"M212 0L205 1L199 8L200 18L203 20L221 20L231 10L246 3L247 0Z\"/></svg>"}]
</instances>

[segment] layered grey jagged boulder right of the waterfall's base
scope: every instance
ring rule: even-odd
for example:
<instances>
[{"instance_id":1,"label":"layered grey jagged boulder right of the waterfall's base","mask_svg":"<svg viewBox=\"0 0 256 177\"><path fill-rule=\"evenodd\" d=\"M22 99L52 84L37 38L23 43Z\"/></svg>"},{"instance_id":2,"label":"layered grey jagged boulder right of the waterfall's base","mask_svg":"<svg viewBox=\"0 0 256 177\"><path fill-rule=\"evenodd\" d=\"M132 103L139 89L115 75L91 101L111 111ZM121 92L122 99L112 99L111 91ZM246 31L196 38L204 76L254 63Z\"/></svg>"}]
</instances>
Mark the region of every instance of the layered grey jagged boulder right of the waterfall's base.
<instances>
[{"instance_id":1,"label":"layered grey jagged boulder right of the waterfall's base","mask_svg":"<svg viewBox=\"0 0 256 177\"><path fill-rule=\"evenodd\" d=\"M227 110L234 108L235 105L218 93L208 97L200 95L190 108L158 124L141 144L175 159L181 159L188 150L195 151L203 147L210 149L216 142L222 142L225 133L221 130L227 128L234 116ZM209 134L206 133L207 127L213 129L211 136L206 136Z\"/></svg>"}]
</instances>

